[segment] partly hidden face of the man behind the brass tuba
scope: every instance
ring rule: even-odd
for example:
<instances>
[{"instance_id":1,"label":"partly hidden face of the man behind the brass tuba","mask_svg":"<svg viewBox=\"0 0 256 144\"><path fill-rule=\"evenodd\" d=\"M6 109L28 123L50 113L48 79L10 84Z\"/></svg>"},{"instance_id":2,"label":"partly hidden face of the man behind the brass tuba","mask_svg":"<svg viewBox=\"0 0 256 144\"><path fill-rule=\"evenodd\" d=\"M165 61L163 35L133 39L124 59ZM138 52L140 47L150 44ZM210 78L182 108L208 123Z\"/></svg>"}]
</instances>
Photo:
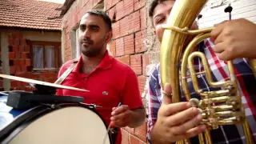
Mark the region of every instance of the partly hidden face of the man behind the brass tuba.
<instances>
[{"instance_id":1,"label":"partly hidden face of the man behind the brass tuba","mask_svg":"<svg viewBox=\"0 0 256 144\"><path fill-rule=\"evenodd\" d=\"M164 1L158 4L154 8L153 13L153 25L154 25L154 34L157 35L160 42L162 42L162 35L164 29L162 29L162 24L166 24L167 19L169 18L170 11L174 6L174 0ZM198 29L196 22L193 23L193 26L190 28L191 30Z\"/></svg>"}]
</instances>

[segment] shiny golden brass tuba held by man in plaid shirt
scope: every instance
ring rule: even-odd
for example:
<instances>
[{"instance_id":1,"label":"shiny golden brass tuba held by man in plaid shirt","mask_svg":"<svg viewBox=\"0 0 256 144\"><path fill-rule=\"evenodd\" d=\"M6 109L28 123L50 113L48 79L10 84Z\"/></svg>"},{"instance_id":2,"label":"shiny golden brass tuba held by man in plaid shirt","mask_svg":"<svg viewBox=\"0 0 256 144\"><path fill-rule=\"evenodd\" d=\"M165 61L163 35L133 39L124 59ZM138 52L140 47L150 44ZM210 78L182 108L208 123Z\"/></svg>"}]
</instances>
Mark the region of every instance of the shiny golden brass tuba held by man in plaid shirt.
<instances>
[{"instance_id":1,"label":"shiny golden brass tuba held by man in plaid shirt","mask_svg":"<svg viewBox=\"0 0 256 144\"><path fill-rule=\"evenodd\" d=\"M210 130L218 129L218 126L240 124L246 136L246 143L251 144L254 143L254 138L250 132L242 105L233 62L227 62L230 79L224 82L213 82L206 56L202 52L194 51L194 47L199 42L210 38L210 31L214 29L214 27L210 27L201 30L189 30L206 2L207 0L176 0L174 3L166 25L162 26L165 31L160 51L161 85L164 87L165 83L170 83L172 94L168 97L172 99L172 102L180 102L183 94L186 101L192 102L193 106L198 107L198 110L202 112L202 124L205 124L207 129L204 133L198 135L200 143L212 143ZM191 34L194 35L194 38L185 46L184 43ZM196 57L202 60L203 72L197 73L194 69L193 59ZM254 59L250 59L250 66L252 66L254 75L256 75ZM186 74L187 70L190 70L190 77ZM197 74L202 73L206 75L206 81L211 87L221 87L222 90L200 90ZM187 78L191 78L195 92L201 97L200 101L191 98ZM219 102L222 102L222 105L214 105L214 103ZM189 139L184 139L178 143L189 142Z\"/></svg>"}]
</instances>

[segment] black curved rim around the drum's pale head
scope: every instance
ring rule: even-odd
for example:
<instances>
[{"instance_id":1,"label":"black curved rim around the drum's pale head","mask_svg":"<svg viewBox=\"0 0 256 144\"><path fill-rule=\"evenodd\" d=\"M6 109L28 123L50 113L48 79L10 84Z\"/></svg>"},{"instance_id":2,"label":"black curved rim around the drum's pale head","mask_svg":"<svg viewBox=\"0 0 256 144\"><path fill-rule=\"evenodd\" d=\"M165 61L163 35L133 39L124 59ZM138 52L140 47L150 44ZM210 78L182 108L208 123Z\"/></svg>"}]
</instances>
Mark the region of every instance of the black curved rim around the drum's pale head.
<instances>
[{"instance_id":1,"label":"black curved rim around the drum's pale head","mask_svg":"<svg viewBox=\"0 0 256 144\"><path fill-rule=\"evenodd\" d=\"M2 144L10 142L19 132L21 132L23 129L25 129L26 126L29 126L29 124L31 122L36 121L38 118L42 117L45 114L49 114L50 112L52 112L54 110L59 110L59 109L70 107L70 106L82 106L88 110L93 111L95 114L98 115L99 118L102 119L102 122L104 123L104 126L106 127L106 130L107 130L108 126L106 125L106 122L94 108L90 108L86 105L83 105L82 103L59 103L59 104L55 104L55 106L60 106L60 107L50 109L50 106L40 105L40 106L33 107L31 110L26 111L21 115L18 115L17 118L14 118L13 122L11 122L9 125L5 126L0 131L1 132L0 142ZM108 134L108 137L110 139L110 144L113 144L110 134Z\"/></svg>"}]
</instances>

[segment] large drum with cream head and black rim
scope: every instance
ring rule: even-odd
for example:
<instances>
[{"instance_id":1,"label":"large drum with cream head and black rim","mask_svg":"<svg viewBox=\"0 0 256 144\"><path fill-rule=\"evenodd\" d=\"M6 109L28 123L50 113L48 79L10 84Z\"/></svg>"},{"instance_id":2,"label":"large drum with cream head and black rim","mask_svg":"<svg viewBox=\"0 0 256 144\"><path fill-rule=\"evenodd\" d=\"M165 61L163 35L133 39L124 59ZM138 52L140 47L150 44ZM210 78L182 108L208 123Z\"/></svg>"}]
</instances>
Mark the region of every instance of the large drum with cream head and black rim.
<instances>
[{"instance_id":1,"label":"large drum with cream head and black rim","mask_svg":"<svg viewBox=\"0 0 256 144\"><path fill-rule=\"evenodd\" d=\"M0 130L0 143L111 144L101 116L82 103L38 105Z\"/></svg>"}]
</instances>

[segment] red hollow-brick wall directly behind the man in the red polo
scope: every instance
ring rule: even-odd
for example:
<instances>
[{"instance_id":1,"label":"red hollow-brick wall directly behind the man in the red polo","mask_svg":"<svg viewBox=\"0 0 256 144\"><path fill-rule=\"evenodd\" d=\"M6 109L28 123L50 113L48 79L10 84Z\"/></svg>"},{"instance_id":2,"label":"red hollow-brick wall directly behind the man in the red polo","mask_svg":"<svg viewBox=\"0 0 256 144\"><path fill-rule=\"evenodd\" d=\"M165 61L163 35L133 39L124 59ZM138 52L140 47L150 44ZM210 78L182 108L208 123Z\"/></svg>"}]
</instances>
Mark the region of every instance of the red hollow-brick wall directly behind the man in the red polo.
<instances>
[{"instance_id":1,"label":"red hollow-brick wall directly behind the man in the red polo","mask_svg":"<svg viewBox=\"0 0 256 144\"><path fill-rule=\"evenodd\" d=\"M150 0L105 0L104 10L109 14L113 26L110 54L129 65L138 75L141 94L146 84L146 69L150 63L158 62L158 42L154 37L147 7ZM62 50L65 61L72 58L71 31L77 29L78 22L87 10L101 4L101 0L75 1L62 19ZM75 46L72 46L75 47ZM146 106L146 98L142 95ZM146 122L138 128L122 129L123 144L146 143Z\"/></svg>"}]
</instances>

